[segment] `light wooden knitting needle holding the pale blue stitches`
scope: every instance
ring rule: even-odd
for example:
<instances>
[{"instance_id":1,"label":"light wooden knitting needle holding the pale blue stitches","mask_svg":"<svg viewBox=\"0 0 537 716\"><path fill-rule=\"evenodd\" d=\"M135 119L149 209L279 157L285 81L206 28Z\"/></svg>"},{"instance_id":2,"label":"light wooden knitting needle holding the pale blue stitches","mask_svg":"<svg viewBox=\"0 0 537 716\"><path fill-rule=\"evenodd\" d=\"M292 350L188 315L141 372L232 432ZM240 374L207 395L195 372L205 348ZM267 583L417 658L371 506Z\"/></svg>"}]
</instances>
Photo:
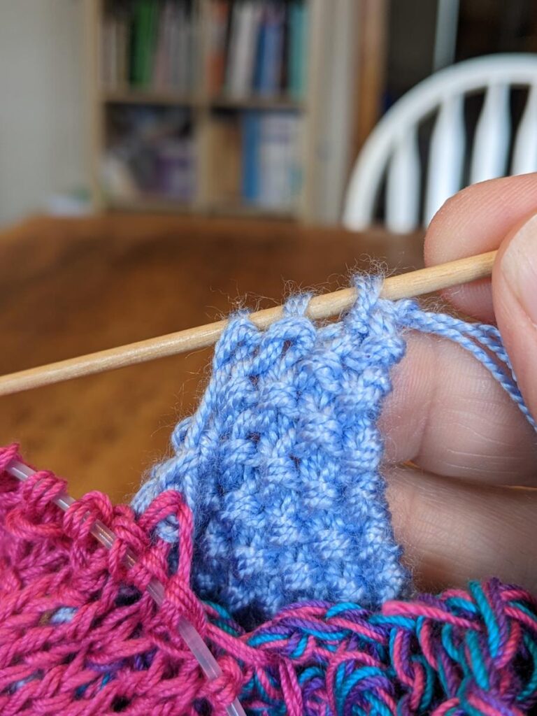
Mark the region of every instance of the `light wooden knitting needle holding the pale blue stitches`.
<instances>
[{"instance_id":1,"label":"light wooden knitting needle holding the pale blue stitches","mask_svg":"<svg viewBox=\"0 0 537 716\"><path fill-rule=\"evenodd\" d=\"M431 266L429 269L410 271L390 276L384 281L381 296L385 299L405 299L466 284L468 281L490 276L496 251L479 256L460 258L458 261ZM342 289L331 294L315 296L309 302L307 315L311 319L327 319L349 309L356 300L356 289ZM250 314L258 328L266 328L281 318L283 306L275 306ZM63 380L102 373L127 365L143 363L179 353L206 348L216 343L226 328L227 321L197 326L165 336L130 343L126 346L89 353L78 358L50 363L37 368L21 370L0 377L0 395L30 390Z\"/></svg>"}]
</instances>

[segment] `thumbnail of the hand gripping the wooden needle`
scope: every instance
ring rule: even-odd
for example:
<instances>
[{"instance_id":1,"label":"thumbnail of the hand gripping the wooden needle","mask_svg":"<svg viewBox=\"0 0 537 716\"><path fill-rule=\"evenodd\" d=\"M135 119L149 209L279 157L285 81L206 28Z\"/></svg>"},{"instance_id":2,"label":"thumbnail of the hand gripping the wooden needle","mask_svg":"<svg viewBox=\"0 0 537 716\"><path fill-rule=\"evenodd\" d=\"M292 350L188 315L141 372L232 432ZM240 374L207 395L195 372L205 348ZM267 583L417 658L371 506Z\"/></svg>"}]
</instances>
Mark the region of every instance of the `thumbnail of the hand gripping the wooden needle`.
<instances>
[{"instance_id":1,"label":"thumbnail of the hand gripping the wooden needle","mask_svg":"<svg viewBox=\"0 0 537 716\"><path fill-rule=\"evenodd\" d=\"M537 214L511 239L501 271L526 314L537 324Z\"/></svg>"}]
</instances>

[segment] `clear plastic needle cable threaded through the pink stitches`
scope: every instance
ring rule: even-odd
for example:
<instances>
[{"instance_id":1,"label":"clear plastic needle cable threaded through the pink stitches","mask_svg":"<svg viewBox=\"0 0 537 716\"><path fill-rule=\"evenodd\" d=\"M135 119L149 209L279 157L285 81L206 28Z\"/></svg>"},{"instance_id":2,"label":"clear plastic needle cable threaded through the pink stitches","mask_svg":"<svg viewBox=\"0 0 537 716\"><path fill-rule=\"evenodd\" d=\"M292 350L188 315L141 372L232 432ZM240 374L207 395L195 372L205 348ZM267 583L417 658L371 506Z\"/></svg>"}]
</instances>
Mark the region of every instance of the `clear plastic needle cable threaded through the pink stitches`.
<instances>
[{"instance_id":1,"label":"clear plastic needle cable threaded through the pink stitches","mask_svg":"<svg viewBox=\"0 0 537 716\"><path fill-rule=\"evenodd\" d=\"M24 465L24 463L19 463L17 460L14 460L10 465L8 465L7 471L15 478L23 482L29 477L32 477L32 475L35 475L34 470L29 468L27 465ZM74 499L70 495L62 493L54 500L54 503L65 511L74 503ZM110 549L112 544L117 539L115 534L100 520L96 520L93 523L90 532L107 549ZM125 555L125 563L128 567L132 567L137 564L135 555L128 549ZM158 606L163 604L165 590L160 581L153 577L150 583L147 584L147 592L153 597ZM209 651L207 644L205 644L203 639L200 637L200 634L198 634L193 625L190 624L190 621L185 619L184 616L180 616L179 618L178 632L181 637L183 637L183 642L185 642L188 649L190 649L190 652L192 652L193 656L198 661L198 664L200 664L200 667L208 680L212 681L213 679L218 679L218 677L222 675L222 669L213 657L213 654ZM228 713L228 716L246 716L238 699L235 699L228 707L226 707L226 712Z\"/></svg>"}]
</instances>

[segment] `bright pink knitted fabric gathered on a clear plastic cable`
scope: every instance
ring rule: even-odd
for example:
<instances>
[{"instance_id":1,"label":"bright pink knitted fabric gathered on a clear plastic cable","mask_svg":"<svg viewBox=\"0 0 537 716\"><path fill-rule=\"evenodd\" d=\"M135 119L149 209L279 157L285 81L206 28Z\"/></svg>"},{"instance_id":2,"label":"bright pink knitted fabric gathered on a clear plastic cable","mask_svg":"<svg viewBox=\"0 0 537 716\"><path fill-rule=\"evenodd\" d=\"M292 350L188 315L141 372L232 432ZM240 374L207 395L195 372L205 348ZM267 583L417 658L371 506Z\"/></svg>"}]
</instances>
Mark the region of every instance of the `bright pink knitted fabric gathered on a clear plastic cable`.
<instances>
[{"instance_id":1,"label":"bright pink knitted fabric gathered on a clear plastic cable","mask_svg":"<svg viewBox=\"0 0 537 716\"><path fill-rule=\"evenodd\" d=\"M14 445L0 452L0 472L14 457ZM238 667L208 684L177 635L183 614L203 637L209 627L189 586L193 524L180 493L163 493L135 520L99 492L63 513L52 500L66 491L44 471L22 484L0 478L0 713L105 715L128 702L132 715L180 714L204 698L223 712L240 690ZM170 515L180 533L173 576L170 545L150 537ZM118 537L110 551L89 533L97 518ZM128 573L127 548L140 561ZM145 592L153 576L166 585L160 609Z\"/></svg>"}]
</instances>

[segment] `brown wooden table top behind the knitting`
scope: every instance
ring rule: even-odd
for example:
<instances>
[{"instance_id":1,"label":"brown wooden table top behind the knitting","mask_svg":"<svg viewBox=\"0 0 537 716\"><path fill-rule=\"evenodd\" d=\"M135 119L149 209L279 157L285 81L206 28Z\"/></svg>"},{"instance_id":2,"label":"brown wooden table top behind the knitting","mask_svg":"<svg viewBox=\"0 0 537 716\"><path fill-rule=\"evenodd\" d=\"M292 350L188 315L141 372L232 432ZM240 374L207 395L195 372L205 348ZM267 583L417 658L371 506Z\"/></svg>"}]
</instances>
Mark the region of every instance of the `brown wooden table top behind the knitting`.
<instances>
[{"instance_id":1,"label":"brown wooden table top behind the knitting","mask_svg":"<svg viewBox=\"0 0 537 716\"><path fill-rule=\"evenodd\" d=\"M112 215L34 218L0 235L0 374L176 331L354 269L422 266L422 236L270 221ZM168 450L205 386L211 351L0 398L0 443L120 500Z\"/></svg>"}]
</instances>

